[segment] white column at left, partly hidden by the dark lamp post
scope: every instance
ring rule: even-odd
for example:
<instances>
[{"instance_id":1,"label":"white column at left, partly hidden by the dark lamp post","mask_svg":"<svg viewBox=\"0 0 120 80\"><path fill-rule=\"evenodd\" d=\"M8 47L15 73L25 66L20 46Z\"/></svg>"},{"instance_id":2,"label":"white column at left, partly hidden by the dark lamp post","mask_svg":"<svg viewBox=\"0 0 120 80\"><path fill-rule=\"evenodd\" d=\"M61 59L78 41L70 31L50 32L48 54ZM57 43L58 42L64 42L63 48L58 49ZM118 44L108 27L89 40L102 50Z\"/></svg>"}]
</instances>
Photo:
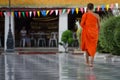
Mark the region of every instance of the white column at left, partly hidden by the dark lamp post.
<instances>
[{"instance_id":1,"label":"white column at left, partly hidden by the dark lamp post","mask_svg":"<svg viewBox=\"0 0 120 80\"><path fill-rule=\"evenodd\" d=\"M5 38L4 38L4 51L6 51L7 49L7 46L6 46L6 41L7 41L7 37L8 37L8 30L9 30L9 15L7 12L4 12L4 15L5 15ZM11 31L12 31L12 34L13 34L13 38L14 38L14 16L10 15L11 16Z\"/></svg>"}]
</instances>

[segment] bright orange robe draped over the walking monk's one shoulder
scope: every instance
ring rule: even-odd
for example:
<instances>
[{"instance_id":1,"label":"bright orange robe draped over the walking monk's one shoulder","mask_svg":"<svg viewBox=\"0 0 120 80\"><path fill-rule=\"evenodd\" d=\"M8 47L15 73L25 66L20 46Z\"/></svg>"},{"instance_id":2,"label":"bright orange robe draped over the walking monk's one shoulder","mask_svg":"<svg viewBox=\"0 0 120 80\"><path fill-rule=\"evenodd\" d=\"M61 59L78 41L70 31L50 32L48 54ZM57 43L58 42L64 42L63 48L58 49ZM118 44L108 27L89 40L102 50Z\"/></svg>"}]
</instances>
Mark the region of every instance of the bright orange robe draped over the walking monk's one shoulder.
<instances>
[{"instance_id":1,"label":"bright orange robe draped over the walking monk's one shoulder","mask_svg":"<svg viewBox=\"0 0 120 80\"><path fill-rule=\"evenodd\" d=\"M81 23L81 49L94 57L98 42L98 18L93 13L85 13Z\"/></svg>"}]
</instances>

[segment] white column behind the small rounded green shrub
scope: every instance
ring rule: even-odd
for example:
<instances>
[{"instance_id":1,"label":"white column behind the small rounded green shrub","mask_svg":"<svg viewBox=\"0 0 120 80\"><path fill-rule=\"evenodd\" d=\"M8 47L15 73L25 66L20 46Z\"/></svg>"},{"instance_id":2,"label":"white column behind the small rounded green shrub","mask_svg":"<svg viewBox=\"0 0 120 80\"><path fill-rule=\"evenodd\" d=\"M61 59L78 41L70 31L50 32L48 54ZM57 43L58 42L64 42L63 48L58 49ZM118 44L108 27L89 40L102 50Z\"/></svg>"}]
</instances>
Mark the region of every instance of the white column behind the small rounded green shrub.
<instances>
[{"instance_id":1,"label":"white column behind the small rounded green shrub","mask_svg":"<svg viewBox=\"0 0 120 80\"><path fill-rule=\"evenodd\" d=\"M68 14L59 15L59 42L61 42L62 33L68 29ZM63 46L59 45L59 51L65 51Z\"/></svg>"}]
</instances>

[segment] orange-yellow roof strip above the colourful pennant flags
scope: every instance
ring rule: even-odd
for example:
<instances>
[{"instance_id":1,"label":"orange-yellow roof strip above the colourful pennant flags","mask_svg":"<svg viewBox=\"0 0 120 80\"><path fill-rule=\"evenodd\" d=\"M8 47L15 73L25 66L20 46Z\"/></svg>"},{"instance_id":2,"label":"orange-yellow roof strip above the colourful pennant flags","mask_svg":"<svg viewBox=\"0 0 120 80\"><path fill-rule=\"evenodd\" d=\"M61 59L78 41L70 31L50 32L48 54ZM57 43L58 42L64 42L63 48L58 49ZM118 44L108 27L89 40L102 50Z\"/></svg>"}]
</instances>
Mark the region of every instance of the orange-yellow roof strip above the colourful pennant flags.
<instances>
[{"instance_id":1,"label":"orange-yellow roof strip above the colourful pennant flags","mask_svg":"<svg viewBox=\"0 0 120 80\"><path fill-rule=\"evenodd\" d=\"M83 7L92 2L95 5L120 3L120 0L10 0L11 7ZM0 7L8 7L9 0L0 0Z\"/></svg>"}]
</instances>

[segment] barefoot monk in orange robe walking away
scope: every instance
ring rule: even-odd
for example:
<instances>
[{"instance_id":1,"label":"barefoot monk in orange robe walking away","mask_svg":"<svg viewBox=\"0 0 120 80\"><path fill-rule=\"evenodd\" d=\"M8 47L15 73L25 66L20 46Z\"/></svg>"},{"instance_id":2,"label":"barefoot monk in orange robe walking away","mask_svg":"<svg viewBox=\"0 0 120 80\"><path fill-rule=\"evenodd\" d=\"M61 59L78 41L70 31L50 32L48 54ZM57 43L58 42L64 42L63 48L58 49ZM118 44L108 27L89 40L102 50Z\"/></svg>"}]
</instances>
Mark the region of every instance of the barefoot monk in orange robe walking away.
<instances>
[{"instance_id":1,"label":"barefoot monk in orange robe walking away","mask_svg":"<svg viewBox=\"0 0 120 80\"><path fill-rule=\"evenodd\" d=\"M100 18L93 12L93 9L94 5L89 3L87 12L83 14L80 22L82 27L80 47L82 51L86 52L86 64L89 66L93 66L100 30Z\"/></svg>"}]
</instances>

